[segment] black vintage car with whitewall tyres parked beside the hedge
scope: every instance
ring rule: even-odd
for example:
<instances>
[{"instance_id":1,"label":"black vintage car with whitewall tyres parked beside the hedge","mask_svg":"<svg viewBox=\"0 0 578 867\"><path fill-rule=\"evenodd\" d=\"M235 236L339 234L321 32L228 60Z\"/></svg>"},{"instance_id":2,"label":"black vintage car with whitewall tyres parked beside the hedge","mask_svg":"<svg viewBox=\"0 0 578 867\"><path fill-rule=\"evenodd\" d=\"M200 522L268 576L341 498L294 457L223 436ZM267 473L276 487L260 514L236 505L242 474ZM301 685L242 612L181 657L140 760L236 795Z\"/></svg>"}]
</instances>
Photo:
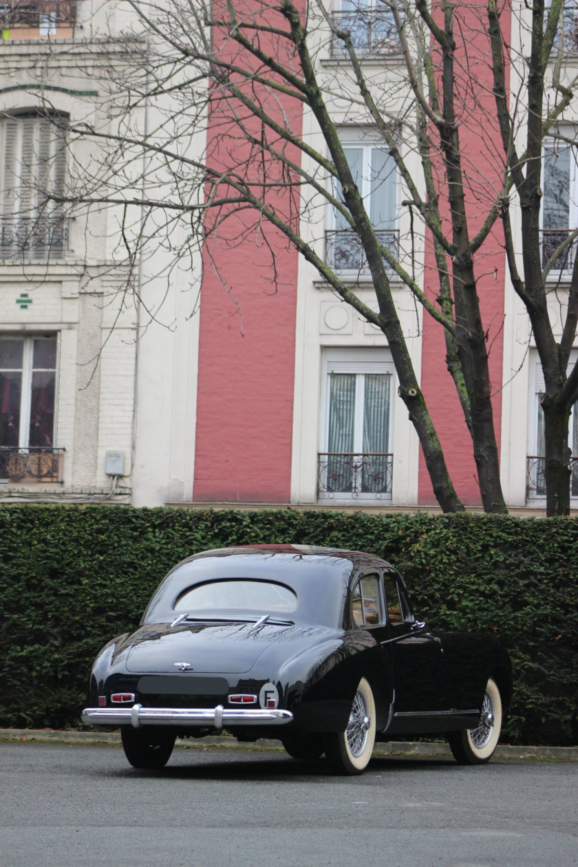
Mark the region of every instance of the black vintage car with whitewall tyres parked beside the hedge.
<instances>
[{"instance_id":1,"label":"black vintage car with whitewall tyres parked beside the hedge","mask_svg":"<svg viewBox=\"0 0 578 867\"><path fill-rule=\"evenodd\" d=\"M458 762L487 762L511 688L503 647L430 631L385 560L253 545L169 572L140 628L98 655L82 721L120 726L134 767L164 766L177 735L225 728L354 774L399 733L444 733Z\"/></svg>"}]
</instances>

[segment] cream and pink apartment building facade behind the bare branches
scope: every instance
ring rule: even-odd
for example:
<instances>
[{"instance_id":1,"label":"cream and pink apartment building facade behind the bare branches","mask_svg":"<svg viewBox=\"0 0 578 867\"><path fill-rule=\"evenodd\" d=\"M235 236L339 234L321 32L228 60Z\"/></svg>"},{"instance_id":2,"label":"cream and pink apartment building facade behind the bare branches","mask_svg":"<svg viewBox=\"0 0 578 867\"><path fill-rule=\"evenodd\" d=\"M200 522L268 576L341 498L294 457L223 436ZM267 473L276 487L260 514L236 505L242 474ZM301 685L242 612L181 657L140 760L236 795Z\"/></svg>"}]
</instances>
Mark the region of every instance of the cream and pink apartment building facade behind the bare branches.
<instances>
[{"instance_id":1,"label":"cream and pink apartment building facade behind the bare branches","mask_svg":"<svg viewBox=\"0 0 578 867\"><path fill-rule=\"evenodd\" d=\"M342 0L334 15L359 21L359 6ZM172 270L170 251L155 248L128 273L130 266L117 255L118 209L75 212L35 199L47 178L64 191L79 166L90 172L91 146L70 139L68 129L110 122L99 116L94 66L102 56L121 66L114 35L130 25L131 15L122 3L93 0L9 4L3 12L0 500L435 505L386 337L336 297L294 248L276 250L274 284L266 245L229 244L227 238L211 251L199 249L192 269ZM406 83L391 22L378 14L361 20L352 28L354 39L367 46L364 62L372 74L391 79L388 110L400 113ZM524 33L512 23L510 38L520 56ZM328 90L347 91L352 72L334 41L321 46L316 62ZM477 74L490 75L483 65ZM517 74L513 69L512 79ZM488 85L491 95L489 77ZM331 109L382 243L392 249L411 245L417 278L435 296L432 251L413 231L414 215L391 157L356 122L350 102L336 96ZM133 116L150 127L161 124L162 113L162 106L148 104L142 116ZM576 227L575 120L571 105L562 119L567 144L553 145L544 160L544 255ZM292 123L314 147L323 147L307 107ZM213 126L209 118L199 132L192 146L198 153L218 136ZM473 123L464 134L464 152L487 176L496 166L479 147L478 132ZM418 156L408 153L409 165L412 160L417 173ZM302 225L302 233L321 245L341 279L376 310L359 247L340 220L325 208ZM483 256L478 290L489 323L503 492L512 508L540 509L541 368L498 235L489 238ZM574 246L549 274L551 318L559 333L573 257ZM443 331L401 280L392 275L391 284L451 478L463 502L476 507L471 439L446 369ZM571 440L578 456L575 413ZM578 502L578 473L572 495Z\"/></svg>"}]
</instances>

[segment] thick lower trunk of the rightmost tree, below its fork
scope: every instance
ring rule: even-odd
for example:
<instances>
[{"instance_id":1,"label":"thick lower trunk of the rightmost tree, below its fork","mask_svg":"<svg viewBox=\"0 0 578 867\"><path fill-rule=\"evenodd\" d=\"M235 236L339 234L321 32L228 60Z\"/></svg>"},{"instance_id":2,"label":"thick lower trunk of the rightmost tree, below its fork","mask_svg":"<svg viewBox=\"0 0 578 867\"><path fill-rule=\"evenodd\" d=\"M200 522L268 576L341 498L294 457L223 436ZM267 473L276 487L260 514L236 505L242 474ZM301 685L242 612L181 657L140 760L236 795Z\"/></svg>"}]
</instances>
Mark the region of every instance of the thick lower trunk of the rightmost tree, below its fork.
<instances>
[{"instance_id":1,"label":"thick lower trunk of the rightmost tree, below its fork","mask_svg":"<svg viewBox=\"0 0 578 867\"><path fill-rule=\"evenodd\" d=\"M560 407L558 401L542 397L546 441L546 515L548 518L570 514L570 457L568 430L570 407Z\"/></svg>"}]
</instances>

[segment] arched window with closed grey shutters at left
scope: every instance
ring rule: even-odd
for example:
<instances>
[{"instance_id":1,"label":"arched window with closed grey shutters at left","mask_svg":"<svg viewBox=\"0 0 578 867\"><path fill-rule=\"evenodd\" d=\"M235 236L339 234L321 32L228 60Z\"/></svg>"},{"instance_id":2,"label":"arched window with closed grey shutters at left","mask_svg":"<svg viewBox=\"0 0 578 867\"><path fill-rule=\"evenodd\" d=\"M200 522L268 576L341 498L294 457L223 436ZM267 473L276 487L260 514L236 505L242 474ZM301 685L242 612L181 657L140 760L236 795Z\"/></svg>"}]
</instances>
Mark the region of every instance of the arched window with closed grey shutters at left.
<instances>
[{"instance_id":1,"label":"arched window with closed grey shutters at left","mask_svg":"<svg viewBox=\"0 0 578 867\"><path fill-rule=\"evenodd\" d=\"M65 121L42 114L0 118L0 256L62 255L66 221L62 195L66 172Z\"/></svg>"}]
</instances>

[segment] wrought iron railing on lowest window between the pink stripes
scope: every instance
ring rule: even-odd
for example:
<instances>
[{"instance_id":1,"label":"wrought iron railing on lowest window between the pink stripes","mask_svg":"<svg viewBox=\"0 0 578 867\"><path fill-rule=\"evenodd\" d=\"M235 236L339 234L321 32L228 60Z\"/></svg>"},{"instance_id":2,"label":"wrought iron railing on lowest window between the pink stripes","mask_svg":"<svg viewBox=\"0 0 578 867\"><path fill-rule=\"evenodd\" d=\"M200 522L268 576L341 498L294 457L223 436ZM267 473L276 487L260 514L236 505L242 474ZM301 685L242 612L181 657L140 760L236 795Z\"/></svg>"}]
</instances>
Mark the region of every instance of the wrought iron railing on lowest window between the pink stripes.
<instances>
[{"instance_id":1,"label":"wrought iron railing on lowest window between the pink stripes","mask_svg":"<svg viewBox=\"0 0 578 867\"><path fill-rule=\"evenodd\" d=\"M321 453L317 456L317 496L391 499L393 454Z\"/></svg>"}]
</instances>

